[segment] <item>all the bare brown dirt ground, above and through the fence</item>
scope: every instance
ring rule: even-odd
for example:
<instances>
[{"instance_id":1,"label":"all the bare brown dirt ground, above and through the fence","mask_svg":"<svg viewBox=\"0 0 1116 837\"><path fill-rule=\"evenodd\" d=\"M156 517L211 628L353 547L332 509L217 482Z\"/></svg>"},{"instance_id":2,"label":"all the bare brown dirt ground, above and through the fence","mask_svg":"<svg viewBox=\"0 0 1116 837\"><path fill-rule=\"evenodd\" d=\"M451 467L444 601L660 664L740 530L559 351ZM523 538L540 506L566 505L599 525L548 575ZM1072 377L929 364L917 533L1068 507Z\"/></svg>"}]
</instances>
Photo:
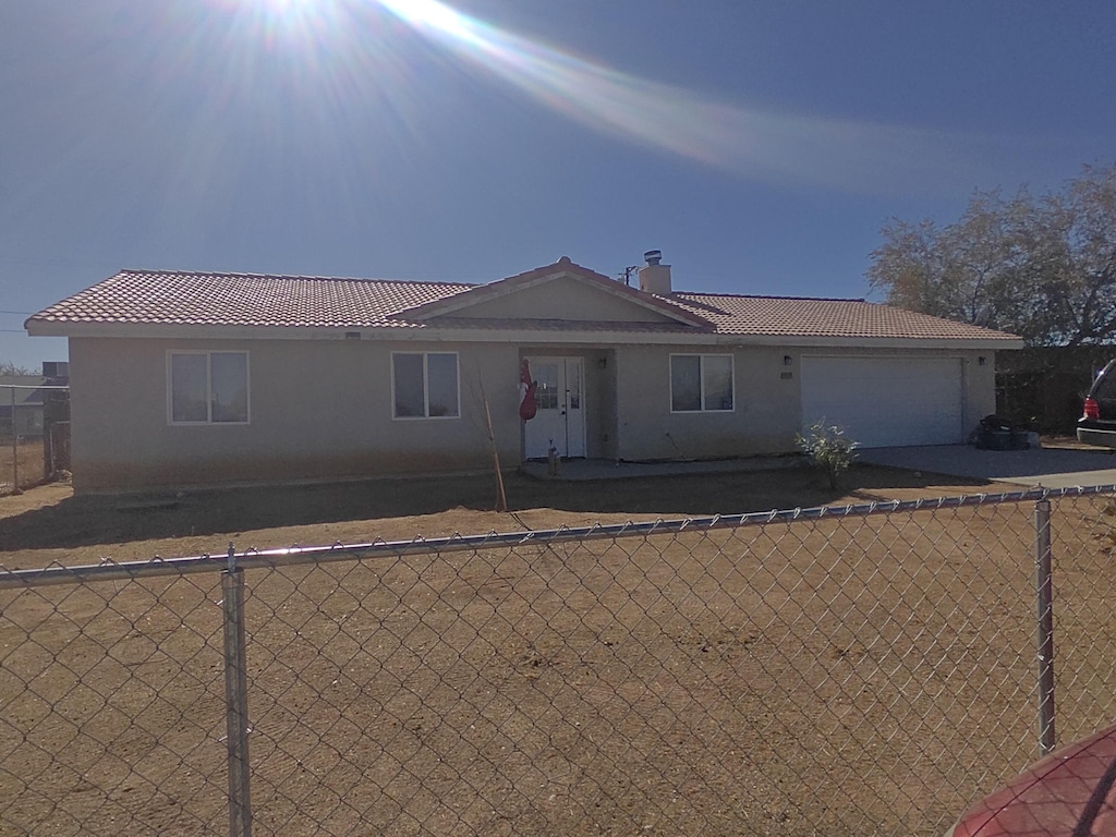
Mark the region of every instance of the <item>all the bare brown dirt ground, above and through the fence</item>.
<instances>
[{"instance_id":1,"label":"all the bare brown dirt ground, above and through the fence","mask_svg":"<svg viewBox=\"0 0 1116 837\"><path fill-rule=\"evenodd\" d=\"M75 565L985 490L870 466L838 491L809 470L512 477L497 513L485 478L46 485L0 498L0 550ZM941 834L1033 754L1030 513L249 571L256 833ZM1103 702L1116 580L1066 539L1097 518L1060 512L1059 677ZM209 574L0 591L0 835L223 828L222 595ZM1067 712L1066 734L1088 727Z\"/></svg>"}]
</instances>

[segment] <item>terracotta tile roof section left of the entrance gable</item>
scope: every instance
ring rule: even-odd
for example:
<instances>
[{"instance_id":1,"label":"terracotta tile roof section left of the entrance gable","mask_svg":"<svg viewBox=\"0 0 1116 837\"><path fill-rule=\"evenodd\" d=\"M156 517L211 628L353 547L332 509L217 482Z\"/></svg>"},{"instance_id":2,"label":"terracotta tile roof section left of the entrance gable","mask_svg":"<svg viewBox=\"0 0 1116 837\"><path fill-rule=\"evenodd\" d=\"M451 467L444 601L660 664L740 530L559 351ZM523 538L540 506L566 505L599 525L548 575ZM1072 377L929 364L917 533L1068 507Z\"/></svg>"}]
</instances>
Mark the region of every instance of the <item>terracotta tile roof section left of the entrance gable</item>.
<instances>
[{"instance_id":1,"label":"terracotta tile roof section left of the entrance gable","mask_svg":"<svg viewBox=\"0 0 1116 837\"><path fill-rule=\"evenodd\" d=\"M47 323L406 327L391 315L473 286L259 273L122 270L35 315Z\"/></svg>"}]
</instances>

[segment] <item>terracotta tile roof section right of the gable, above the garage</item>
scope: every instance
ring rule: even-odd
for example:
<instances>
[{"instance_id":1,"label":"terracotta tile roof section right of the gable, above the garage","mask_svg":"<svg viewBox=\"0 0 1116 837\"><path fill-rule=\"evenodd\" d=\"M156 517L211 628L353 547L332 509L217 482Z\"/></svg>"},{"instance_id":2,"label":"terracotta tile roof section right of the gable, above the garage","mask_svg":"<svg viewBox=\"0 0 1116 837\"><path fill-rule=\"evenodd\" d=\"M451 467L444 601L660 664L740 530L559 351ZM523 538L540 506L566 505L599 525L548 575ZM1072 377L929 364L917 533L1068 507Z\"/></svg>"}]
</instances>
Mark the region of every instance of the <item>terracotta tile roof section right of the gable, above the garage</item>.
<instances>
[{"instance_id":1,"label":"terracotta tile roof section right of the gable, above the garage","mask_svg":"<svg viewBox=\"0 0 1116 837\"><path fill-rule=\"evenodd\" d=\"M1012 340L1014 335L915 314L863 299L672 294L674 302L710 320L719 334L778 337L907 337Z\"/></svg>"}]
</instances>

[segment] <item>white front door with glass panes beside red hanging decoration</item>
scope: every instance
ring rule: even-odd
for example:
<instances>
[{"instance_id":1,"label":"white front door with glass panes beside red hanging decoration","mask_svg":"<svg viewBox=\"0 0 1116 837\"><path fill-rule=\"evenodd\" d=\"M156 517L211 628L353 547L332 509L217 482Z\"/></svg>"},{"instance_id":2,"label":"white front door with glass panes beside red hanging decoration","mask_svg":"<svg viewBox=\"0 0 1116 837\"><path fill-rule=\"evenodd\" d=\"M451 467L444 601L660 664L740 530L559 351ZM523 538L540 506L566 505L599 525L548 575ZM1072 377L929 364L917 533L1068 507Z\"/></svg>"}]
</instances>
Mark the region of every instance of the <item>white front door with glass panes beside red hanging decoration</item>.
<instances>
[{"instance_id":1,"label":"white front door with glass panes beside red hanging decoration","mask_svg":"<svg viewBox=\"0 0 1116 837\"><path fill-rule=\"evenodd\" d=\"M535 417L523 426L523 456L585 455L585 366L580 357L529 357Z\"/></svg>"}]
</instances>

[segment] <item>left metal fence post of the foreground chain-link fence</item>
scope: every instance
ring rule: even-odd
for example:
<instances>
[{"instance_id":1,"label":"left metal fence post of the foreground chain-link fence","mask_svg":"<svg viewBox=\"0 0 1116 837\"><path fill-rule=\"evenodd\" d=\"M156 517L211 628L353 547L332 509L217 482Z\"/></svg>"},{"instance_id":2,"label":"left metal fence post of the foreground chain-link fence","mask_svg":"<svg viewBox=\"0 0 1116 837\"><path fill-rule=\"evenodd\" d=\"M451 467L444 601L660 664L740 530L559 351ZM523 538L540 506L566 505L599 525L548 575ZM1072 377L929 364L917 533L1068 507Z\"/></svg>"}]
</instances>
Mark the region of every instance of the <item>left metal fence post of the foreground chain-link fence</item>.
<instances>
[{"instance_id":1,"label":"left metal fence post of the foreground chain-link fence","mask_svg":"<svg viewBox=\"0 0 1116 837\"><path fill-rule=\"evenodd\" d=\"M248 773L248 670L244 638L244 570L229 543L229 567L221 574L224 603L225 737L229 744L229 837L251 837Z\"/></svg>"}]
</instances>

